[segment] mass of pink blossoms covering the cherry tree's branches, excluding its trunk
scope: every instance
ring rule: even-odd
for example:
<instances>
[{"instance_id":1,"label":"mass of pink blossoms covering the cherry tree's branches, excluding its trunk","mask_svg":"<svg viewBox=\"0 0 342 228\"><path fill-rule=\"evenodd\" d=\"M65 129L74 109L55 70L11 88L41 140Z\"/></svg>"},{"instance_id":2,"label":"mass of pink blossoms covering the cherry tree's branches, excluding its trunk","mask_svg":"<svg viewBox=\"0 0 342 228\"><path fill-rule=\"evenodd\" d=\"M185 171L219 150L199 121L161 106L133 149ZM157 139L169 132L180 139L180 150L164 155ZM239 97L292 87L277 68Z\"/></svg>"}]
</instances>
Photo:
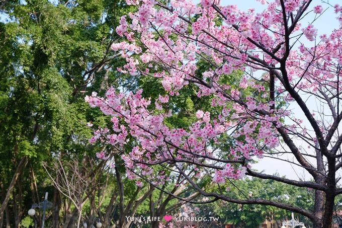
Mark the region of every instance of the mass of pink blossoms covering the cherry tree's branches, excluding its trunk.
<instances>
[{"instance_id":1,"label":"mass of pink blossoms covering the cherry tree's branches, excluding its trunk","mask_svg":"<svg viewBox=\"0 0 342 228\"><path fill-rule=\"evenodd\" d=\"M113 123L110 130L95 131L91 143L100 140L123 147L129 137L136 140L129 155L122 156L130 178L139 173L161 184L167 176L153 170L157 164L168 164L175 171L188 164L196 175L205 167L206 173L211 170L213 181L224 183L227 178L242 178L249 160L262 158L265 151L277 148L281 134L290 132L315 143L316 138L283 106L298 101L291 95L298 91L317 98L325 90L332 96L339 92L342 28L317 37L313 24L302 28L294 22L308 1L288 0L282 6L280 1L261 0L266 4L261 13L253 9L243 12L233 5L216 6L211 0L202 0L201 5L173 0L162 7L152 0L143 4L126 2L136 5L137 11L128 15L129 23L122 17L116 29L126 38L112 45L126 59L118 71L154 77L160 80L166 95L155 100L155 110L149 109L151 99L143 98L142 90L124 94L109 88L105 97L93 94L86 101L110 115ZM342 7L336 5L334 9L342 26ZM323 7L315 6L313 13L323 13ZM284 28L284 15L292 17L286 21L288 28ZM217 18L222 23L217 23ZM302 44L295 50L296 37L301 35L321 42L313 47ZM199 59L210 65L201 75L197 74ZM279 67L284 59L286 75ZM253 73L258 70L264 74L255 77ZM224 83L234 71L246 73L237 84ZM270 88L272 73L275 91ZM213 115L197 110L197 120L189 129L169 127L165 121L174 113L166 104L189 83L198 86L199 98L212 97L212 105L221 112ZM278 97L272 98L272 93ZM286 118L295 124L284 124ZM325 123L317 124L324 128ZM323 135L326 133L323 131ZM233 137L233 146L228 151L213 149L220 147L223 134ZM102 154L98 157L106 158Z\"/></svg>"}]
</instances>

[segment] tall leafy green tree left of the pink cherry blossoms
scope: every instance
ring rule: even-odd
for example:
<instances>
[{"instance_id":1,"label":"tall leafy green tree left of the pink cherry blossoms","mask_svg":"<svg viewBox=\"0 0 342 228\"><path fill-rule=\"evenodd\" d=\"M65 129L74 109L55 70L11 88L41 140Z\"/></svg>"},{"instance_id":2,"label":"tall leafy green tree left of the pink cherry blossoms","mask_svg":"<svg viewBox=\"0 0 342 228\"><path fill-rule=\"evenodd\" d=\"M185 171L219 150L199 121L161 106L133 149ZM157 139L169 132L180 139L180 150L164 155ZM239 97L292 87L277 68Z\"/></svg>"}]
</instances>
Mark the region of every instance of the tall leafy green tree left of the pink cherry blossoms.
<instances>
[{"instance_id":1,"label":"tall leafy green tree left of the pink cherry blossoms","mask_svg":"<svg viewBox=\"0 0 342 228\"><path fill-rule=\"evenodd\" d=\"M5 218L7 227L18 227L48 191L57 227L62 204L69 202L46 182L42 162L81 161L101 151L87 145L91 130L85 123L99 112L89 110L83 97L90 88L104 91L109 82L121 83L111 70L120 63L118 54L109 47L117 39L118 18L129 7L120 1L6 1L1 6L0 226Z\"/></svg>"}]
</instances>

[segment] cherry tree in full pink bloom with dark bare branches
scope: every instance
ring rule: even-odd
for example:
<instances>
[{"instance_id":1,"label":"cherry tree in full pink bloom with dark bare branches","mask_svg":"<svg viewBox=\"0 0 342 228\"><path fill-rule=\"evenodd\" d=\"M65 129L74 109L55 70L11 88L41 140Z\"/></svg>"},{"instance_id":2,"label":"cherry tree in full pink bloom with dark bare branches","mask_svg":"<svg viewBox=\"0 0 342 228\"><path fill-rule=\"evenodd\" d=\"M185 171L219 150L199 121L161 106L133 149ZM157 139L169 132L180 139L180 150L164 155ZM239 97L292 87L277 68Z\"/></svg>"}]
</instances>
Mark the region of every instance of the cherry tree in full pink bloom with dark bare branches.
<instances>
[{"instance_id":1,"label":"cherry tree in full pink bloom with dark bare branches","mask_svg":"<svg viewBox=\"0 0 342 228\"><path fill-rule=\"evenodd\" d=\"M122 156L127 175L158 187L169 178L161 168L181 174L208 199L194 203L221 199L271 205L307 216L314 227L330 227L334 199L342 193L336 178L342 167L342 7L313 0L260 0L265 10L256 13L214 0L199 5L190 0L126 2L137 11L121 17L116 29L125 41L112 49L126 60L118 70L154 77L165 93L154 103L142 90L133 94L109 88L105 97L93 93L85 100L111 115L113 127L99 128L90 142L123 147L133 137L131 152ZM339 27L318 36L315 21L328 7L334 8ZM313 21L301 25L310 15ZM198 74L200 60L210 67ZM244 71L243 77L227 83L236 70ZM197 85L197 96L210 97L220 112L198 110L189 128L171 128L167 120L175 111L168 100L189 84ZM222 146L227 135L228 149ZM305 169L312 180L253 170L254 159L266 154L292 155L288 162ZM225 194L229 189L209 192L199 186L204 176L220 185L244 175L314 189L314 207L253 196L230 198Z\"/></svg>"}]
</instances>

